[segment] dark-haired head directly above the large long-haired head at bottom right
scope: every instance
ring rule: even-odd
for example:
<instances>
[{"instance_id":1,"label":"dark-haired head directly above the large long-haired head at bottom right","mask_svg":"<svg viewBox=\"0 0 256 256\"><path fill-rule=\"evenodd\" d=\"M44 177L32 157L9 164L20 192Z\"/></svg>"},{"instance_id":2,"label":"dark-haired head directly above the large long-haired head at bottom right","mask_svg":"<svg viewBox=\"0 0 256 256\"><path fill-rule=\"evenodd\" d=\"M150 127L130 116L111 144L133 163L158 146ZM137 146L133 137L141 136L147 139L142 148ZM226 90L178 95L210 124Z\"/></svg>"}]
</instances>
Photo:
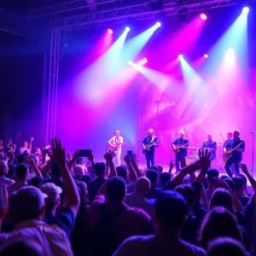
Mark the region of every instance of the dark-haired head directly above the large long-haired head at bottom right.
<instances>
[{"instance_id":1,"label":"dark-haired head directly above the large long-haired head at bottom right","mask_svg":"<svg viewBox=\"0 0 256 256\"><path fill-rule=\"evenodd\" d=\"M230 212L234 212L233 198L226 189L216 189L210 200L210 209L213 207L224 207Z\"/></svg>"}]
</instances>

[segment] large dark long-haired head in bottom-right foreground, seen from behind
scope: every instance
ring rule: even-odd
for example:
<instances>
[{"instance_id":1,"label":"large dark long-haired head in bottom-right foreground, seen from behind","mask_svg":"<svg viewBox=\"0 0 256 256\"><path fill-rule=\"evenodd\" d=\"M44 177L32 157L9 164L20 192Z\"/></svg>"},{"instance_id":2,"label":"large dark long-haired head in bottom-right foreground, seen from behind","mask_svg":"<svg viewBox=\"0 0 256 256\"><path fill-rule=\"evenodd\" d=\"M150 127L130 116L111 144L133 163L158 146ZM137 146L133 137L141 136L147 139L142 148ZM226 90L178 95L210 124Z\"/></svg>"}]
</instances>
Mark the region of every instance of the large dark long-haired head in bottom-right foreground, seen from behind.
<instances>
[{"instance_id":1,"label":"large dark long-haired head in bottom-right foreground, seen from behind","mask_svg":"<svg viewBox=\"0 0 256 256\"><path fill-rule=\"evenodd\" d=\"M206 248L207 243L219 236L227 236L241 241L241 233L236 219L231 212L224 207L214 207L201 224L201 247Z\"/></svg>"}]
</instances>

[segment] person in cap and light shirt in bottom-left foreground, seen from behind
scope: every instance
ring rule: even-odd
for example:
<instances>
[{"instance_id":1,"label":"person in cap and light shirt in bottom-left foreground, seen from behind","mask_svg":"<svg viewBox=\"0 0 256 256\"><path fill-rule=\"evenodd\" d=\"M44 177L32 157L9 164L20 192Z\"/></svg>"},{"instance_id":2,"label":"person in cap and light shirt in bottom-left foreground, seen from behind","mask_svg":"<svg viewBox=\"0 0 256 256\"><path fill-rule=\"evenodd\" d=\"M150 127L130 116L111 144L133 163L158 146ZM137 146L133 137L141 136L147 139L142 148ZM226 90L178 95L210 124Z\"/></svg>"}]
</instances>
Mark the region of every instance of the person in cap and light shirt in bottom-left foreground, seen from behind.
<instances>
[{"instance_id":1,"label":"person in cap and light shirt in bottom-left foreground, seen from behind","mask_svg":"<svg viewBox=\"0 0 256 256\"><path fill-rule=\"evenodd\" d=\"M66 233L60 227L44 222L44 199L47 197L48 195L33 186L26 186L15 192L13 207L9 207L15 229L10 233L1 233L0 244L22 238L38 243L43 248L44 255L73 255Z\"/></svg>"}]
</instances>

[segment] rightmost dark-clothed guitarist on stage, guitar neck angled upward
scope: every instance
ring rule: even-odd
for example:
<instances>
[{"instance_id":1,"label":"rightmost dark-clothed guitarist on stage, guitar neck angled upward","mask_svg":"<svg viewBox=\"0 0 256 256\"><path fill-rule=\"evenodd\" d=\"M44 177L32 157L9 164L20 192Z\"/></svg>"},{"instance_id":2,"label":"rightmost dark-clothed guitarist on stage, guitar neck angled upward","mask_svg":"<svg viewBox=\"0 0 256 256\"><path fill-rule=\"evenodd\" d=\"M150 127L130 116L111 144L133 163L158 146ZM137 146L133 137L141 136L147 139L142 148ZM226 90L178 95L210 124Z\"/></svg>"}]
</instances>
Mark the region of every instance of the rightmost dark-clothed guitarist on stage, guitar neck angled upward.
<instances>
[{"instance_id":1,"label":"rightmost dark-clothed guitarist on stage, guitar neck angled upward","mask_svg":"<svg viewBox=\"0 0 256 256\"><path fill-rule=\"evenodd\" d=\"M236 148L240 143L241 145L238 148ZM225 164L225 170L230 177L232 177L232 172L230 171L230 166L232 164L234 164L235 166L236 174L239 173L238 164L241 162L242 153L245 151L245 143L240 138L240 131L235 130L233 132L233 138L230 139L229 143L227 143L226 147L224 148L224 153L232 148L236 149L231 153L231 157L226 161Z\"/></svg>"}]
</instances>

